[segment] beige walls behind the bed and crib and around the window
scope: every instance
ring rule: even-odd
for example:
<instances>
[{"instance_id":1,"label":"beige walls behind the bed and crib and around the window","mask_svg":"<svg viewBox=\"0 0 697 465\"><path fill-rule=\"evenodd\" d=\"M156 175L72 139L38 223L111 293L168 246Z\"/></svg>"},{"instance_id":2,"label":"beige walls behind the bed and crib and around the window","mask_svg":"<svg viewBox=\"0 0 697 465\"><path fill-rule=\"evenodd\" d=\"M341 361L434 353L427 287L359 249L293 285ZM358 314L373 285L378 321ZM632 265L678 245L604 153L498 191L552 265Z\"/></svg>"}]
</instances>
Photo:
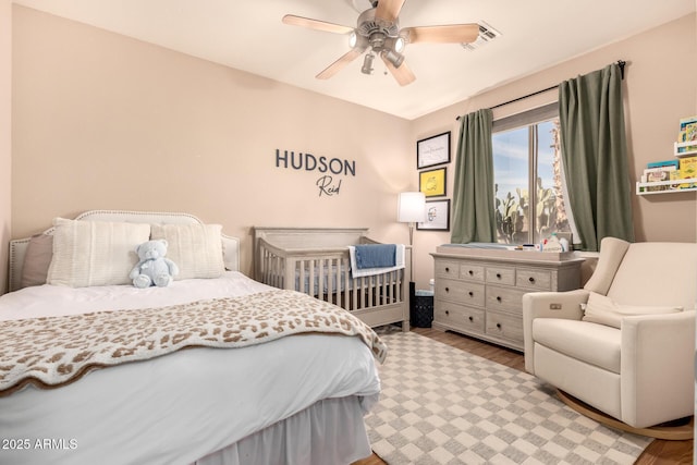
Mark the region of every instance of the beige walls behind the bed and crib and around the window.
<instances>
[{"instance_id":1,"label":"beige walls behind the bed and crib and around the window","mask_svg":"<svg viewBox=\"0 0 697 465\"><path fill-rule=\"evenodd\" d=\"M254 224L368 227L378 240L407 242L395 205L399 192L418 186L417 139L452 131L454 151L456 115L615 60L628 62L633 182L646 162L672 157L677 120L697 114L694 14L415 121L17 5L13 28L12 235L94 208L188 211L243 238L245 271ZM547 93L494 117L554 99ZM276 168L277 148L355 160L356 176L320 197L321 174ZM696 197L634 196L637 240L695 241ZM419 287L432 277L428 254L449 241L415 232Z\"/></svg>"}]
</instances>

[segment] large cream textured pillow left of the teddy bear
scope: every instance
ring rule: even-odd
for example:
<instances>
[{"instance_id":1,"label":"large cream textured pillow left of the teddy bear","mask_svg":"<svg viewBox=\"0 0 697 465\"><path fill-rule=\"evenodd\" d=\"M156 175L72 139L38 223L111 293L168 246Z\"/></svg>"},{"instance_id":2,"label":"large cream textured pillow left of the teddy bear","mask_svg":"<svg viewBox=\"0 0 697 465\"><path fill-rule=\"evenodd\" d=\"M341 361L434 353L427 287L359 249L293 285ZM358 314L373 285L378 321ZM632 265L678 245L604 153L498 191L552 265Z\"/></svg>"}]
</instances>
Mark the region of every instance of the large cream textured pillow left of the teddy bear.
<instances>
[{"instance_id":1,"label":"large cream textured pillow left of the teddy bear","mask_svg":"<svg viewBox=\"0 0 697 465\"><path fill-rule=\"evenodd\" d=\"M138 262L135 247L149 240L150 225L108 221L53 220L49 284L87 287L130 284Z\"/></svg>"}]
</instances>

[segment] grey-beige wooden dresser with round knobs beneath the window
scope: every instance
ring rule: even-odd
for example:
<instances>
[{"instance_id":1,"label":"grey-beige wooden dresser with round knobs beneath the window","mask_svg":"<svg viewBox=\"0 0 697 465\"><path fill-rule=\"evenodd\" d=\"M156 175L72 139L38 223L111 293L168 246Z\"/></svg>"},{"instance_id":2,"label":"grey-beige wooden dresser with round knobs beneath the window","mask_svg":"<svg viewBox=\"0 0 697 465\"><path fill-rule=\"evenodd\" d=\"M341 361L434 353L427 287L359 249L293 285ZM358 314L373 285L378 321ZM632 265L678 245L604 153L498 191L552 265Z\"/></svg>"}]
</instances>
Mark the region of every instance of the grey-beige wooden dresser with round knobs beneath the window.
<instances>
[{"instance_id":1,"label":"grey-beige wooden dresser with round knobs beneath the window","mask_svg":"<svg viewBox=\"0 0 697 465\"><path fill-rule=\"evenodd\" d=\"M523 351L523 295L580 286L583 258L443 245L435 261L433 328Z\"/></svg>"}]
</instances>

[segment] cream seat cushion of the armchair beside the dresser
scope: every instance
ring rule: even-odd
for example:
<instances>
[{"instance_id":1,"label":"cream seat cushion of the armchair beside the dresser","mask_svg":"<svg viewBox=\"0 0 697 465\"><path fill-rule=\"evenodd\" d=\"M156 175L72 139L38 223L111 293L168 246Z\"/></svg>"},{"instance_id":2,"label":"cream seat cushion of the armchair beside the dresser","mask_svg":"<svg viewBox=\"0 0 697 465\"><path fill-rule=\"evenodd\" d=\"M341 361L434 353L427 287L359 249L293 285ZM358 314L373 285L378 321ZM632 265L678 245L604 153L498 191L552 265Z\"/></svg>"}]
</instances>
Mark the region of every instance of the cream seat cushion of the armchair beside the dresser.
<instances>
[{"instance_id":1,"label":"cream seat cushion of the armchair beside the dresser","mask_svg":"<svg viewBox=\"0 0 697 465\"><path fill-rule=\"evenodd\" d=\"M620 374L622 332L616 328L561 318L536 318L533 339L564 355Z\"/></svg>"}]
</instances>

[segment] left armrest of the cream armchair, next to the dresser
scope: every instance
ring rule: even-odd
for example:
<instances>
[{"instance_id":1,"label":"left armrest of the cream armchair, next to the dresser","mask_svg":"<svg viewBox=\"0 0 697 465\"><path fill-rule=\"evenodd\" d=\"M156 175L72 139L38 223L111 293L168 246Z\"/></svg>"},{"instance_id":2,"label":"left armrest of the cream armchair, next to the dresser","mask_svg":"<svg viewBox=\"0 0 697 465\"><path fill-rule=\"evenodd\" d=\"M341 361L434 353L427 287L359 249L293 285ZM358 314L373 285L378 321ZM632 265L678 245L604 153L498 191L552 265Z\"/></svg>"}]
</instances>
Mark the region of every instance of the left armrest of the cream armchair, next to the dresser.
<instances>
[{"instance_id":1,"label":"left armrest of the cream armchair, next to the dresser","mask_svg":"<svg viewBox=\"0 0 697 465\"><path fill-rule=\"evenodd\" d=\"M523 340L526 371L535 375L533 320L535 318L579 320L584 315L580 304L588 302L588 291L577 289L566 292L530 292L523 295Z\"/></svg>"}]
</instances>

